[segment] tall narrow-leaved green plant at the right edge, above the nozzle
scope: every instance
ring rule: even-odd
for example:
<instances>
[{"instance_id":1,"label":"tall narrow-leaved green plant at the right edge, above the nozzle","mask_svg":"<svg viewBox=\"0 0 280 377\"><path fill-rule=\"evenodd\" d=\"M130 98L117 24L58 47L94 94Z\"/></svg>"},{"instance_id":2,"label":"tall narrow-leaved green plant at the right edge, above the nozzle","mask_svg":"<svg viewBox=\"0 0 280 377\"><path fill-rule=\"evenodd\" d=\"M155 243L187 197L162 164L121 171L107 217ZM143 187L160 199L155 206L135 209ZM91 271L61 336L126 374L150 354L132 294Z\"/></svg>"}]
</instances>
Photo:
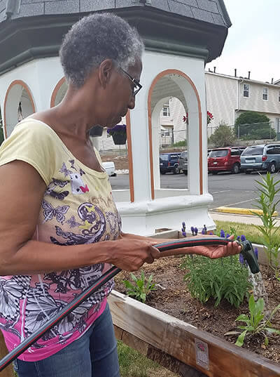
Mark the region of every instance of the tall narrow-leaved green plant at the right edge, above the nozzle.
<instances>
[{"instance_id":1,"label":"tall narrow-leaved green plant at the right edge, above the nozzle","mask_svg":"<svg viewBox=\"0 0 280 377\"><path fill-rule=\"evenodd\" d=\"M279 234L280 227L276 227L275 209L279 204L280 199L276 200L276 194L280 191L276 185L280 183L280 180L275 181L274 176L267 173L265 178L260 176L262 181L256 181L258 183L258 192L260 197L256 199L255 205L258 209L262 210L262 213L254 213L262 220L262 225L253 225L256 229L260 230L262 234L262 244L265 246L265 253L269 267L274 271L276 279L280 281L280 266L279 266L279 254L280 254L280 242L275 239L275 234ZM273 284L273 279L272 279Z\"/></svg>"}]
</instances>

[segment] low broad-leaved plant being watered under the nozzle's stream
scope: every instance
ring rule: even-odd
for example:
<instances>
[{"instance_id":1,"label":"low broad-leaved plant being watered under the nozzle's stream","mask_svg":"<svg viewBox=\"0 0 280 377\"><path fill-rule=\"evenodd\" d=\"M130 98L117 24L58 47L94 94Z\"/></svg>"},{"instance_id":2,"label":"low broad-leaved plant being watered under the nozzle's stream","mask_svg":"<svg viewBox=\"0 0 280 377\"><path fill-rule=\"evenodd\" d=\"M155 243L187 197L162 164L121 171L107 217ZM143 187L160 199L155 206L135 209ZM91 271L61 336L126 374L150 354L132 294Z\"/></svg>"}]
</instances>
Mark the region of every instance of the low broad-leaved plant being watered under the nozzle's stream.
<instances>
[{"instance_id":1,"label":"low broad-leaved plant being watered under the nozzle's stream","mask_svg":"<svg viewBox=\"0 0 280 377\"><path fill-rule=\"evenodd\" d=\"M264 319L264 300L263 298L259 298L257 302L255 302L253 295L249 298L249 310L250 310L250 317L248 315L239 315L235 321L245 322L245 326L237 326L238 329L244 330L240 333L239 337L237 338L236 345L243 345L245 336L255 336L255 335L262 335L265 338L265 345L268 345L268 338L267 333L276 333L280 335L280 330L273 329L271 324L271 319L276 313L277 310L280 309L280 304L275 307L272 311L271 315L268 319ZM239 333L237 331L230 331L229 334Z\"/></svg>"}]
</instances>

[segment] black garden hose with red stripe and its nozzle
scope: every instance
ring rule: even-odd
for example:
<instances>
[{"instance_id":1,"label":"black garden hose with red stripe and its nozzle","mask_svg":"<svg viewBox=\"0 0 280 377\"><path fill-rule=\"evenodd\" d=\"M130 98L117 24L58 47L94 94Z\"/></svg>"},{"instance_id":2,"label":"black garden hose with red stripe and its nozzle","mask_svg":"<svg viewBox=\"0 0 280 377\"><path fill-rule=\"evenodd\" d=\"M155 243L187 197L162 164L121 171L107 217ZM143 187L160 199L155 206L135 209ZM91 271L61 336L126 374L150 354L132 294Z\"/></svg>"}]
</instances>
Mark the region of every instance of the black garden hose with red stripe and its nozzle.
<instances>
[{"instance_id":1,"label":"black garden hose with red stripe and its nozzle","mask_svg":"<svg viewBox=\"0 0 280 377\"><path fill-rule=\"evenodd\" d=\"M194 238L191 237L189 239L177 239L172 242L164 242L162 244L154 245L159 251L167 251L173 249L181 249L183 247L190 247L190 246L211 246L211 245L226 245L228 244L228 239L225 238L210 238L210 237L203 237L203 238ZM243 254L244 258L247 260L249 267L251 267L251 271L253 273L258 272L258 261L254 258L253 248L251 242L239 242L242 246L241 253ZM253 268L253 269L252 269ZM29 338L25 339L22 343L20 343L13 351L8 353L3 359L0 360L0 371L6 368L14 359L19 357L27 348L31 347L39 338L43 336L43 334L50 330L53 326L55 326L61 319L69 315L78 305L83 303L88 297L92 295L95 291L100 289L106 282L108 282L112 277L116 276L121 271L118 267L111 267L110 270L105 272L99 279L97 279L94 284L89 286L85 291L80 293L76 298L74 298L71 303L67 304L57 315L54 315L52 318L48 319L47 322L41 327L40 330L36 331L34 334L29 336ZM254 272L255 271L255 272Z\"/></svg>"}]
</instances>

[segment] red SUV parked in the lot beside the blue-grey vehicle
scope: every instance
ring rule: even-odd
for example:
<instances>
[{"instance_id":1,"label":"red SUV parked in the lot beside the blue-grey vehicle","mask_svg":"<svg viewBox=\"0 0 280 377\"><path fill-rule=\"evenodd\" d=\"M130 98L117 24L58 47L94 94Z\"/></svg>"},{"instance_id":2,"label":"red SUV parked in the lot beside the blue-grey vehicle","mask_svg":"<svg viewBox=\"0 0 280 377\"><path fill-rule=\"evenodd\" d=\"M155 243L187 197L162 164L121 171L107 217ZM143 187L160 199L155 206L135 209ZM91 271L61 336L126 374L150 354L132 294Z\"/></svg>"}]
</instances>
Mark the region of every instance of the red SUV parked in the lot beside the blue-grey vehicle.
<instances>
[{"instance_id":1,"label":"red SUV parked in the lot beside the blue-grey vehicle","mask_svg":"<svg viewBox=\"0 0 280 377\"><path fill-rule=\"evenodd\" d=\"M243 149L243 147L224 147L211 150L208 156L209 173L218 174L221 171L239 173L240 154Z\"/></svg>"}]
</instances>

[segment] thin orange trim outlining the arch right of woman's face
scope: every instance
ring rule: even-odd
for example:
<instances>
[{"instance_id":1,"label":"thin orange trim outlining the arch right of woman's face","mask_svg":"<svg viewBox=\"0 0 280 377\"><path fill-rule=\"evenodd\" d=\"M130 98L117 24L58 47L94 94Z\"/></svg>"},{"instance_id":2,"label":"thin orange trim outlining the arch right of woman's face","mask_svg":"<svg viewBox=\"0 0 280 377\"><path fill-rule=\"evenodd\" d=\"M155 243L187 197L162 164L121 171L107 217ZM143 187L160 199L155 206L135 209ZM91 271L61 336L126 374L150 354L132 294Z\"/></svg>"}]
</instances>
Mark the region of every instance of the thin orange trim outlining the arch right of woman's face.
<instances>
[{"instance_id":1,"label":"thin orange trim outlining the arch right of woman's face","mask_svg":"<svg viewBox=\"0 0 280 377\"><path fill-rule=\"evenodd\" d=\"M155 199L155 183L154 183L154 174L153 174L153 138L152 138L152 107L151 107L151 100L153 89L155 88L155 84L162 78L167 76L167 74L178 74L179 76L183 77L184 79L188 80L190 85L193 87L195 92L195 96L197 98L197 107L198 107L198 116L199 116L199 130L200 130L200 195L203 194L203 173L202 173L202 110L201 110L201 102L200 102L200 95L198 94L197 88L193 81L188 77L187 74L181 72L179 70L165 70L160 72L151 84L151 87L148 91L148 135L149 135L149 150L150 150L150 169L151 169L151 197Z\"/></svg>"}]
</instances>

